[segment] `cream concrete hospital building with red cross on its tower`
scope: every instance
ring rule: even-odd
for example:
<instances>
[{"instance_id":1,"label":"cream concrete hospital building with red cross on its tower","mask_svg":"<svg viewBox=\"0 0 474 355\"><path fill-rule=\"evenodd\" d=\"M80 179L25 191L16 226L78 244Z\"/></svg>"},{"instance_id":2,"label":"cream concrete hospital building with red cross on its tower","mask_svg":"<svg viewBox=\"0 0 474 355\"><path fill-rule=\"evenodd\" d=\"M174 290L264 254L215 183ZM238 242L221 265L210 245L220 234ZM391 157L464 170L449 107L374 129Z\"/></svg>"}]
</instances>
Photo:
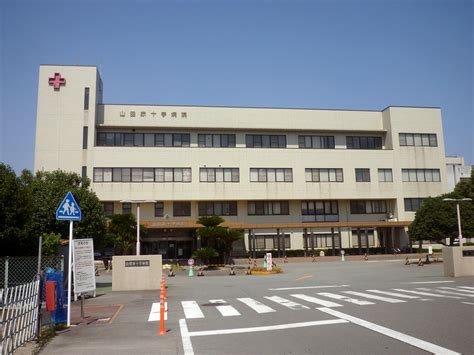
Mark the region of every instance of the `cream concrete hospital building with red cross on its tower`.
<instances>
[{"instance_id":1,"label":"cream concrete hospital building with red cross on its tower","mask_svg":"<svg viewBox=\"0 0 474 355\"><path fill-rule=\"evenodd\" d=\"M40 67L35 169L87 175L109 214L150 201L142 253L165 258L188 257L213 214L244 230L241 253L388 252L448 191L439 108L105 104L94 66Z\"/></svg>"}]
</instances>

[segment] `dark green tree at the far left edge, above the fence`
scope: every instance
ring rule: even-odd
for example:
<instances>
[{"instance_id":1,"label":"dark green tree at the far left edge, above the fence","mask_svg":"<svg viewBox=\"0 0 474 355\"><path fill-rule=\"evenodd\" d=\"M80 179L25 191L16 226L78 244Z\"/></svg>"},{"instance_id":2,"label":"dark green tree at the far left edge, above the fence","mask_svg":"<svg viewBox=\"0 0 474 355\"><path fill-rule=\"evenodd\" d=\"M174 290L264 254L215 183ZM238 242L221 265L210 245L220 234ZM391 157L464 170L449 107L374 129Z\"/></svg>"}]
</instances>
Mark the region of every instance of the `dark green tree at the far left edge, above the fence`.
<instances>
[{"instance_id":1,"label":"dark green tree at the far left edge, above the fence","mask_svg":"<svg viewBox=\"0 0 474 355\"><path fill-rule=\"evenodd\" d=\"M0 255L25 255L34 245L26 233L31 202L27 186L10 166L0 164Z\"/></svg>"}]
</instances>

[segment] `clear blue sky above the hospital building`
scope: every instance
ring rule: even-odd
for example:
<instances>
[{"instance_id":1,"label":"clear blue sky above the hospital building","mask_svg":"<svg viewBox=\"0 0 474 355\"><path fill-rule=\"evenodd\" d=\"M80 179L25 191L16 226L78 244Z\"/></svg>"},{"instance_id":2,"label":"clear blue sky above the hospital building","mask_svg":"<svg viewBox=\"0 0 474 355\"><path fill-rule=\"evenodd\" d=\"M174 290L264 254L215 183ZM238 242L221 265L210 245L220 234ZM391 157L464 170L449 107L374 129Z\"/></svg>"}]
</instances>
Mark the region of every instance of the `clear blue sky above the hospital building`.
<instances>
[{"instance_id":1,"label":"clear blue sky above the hospital building","mask_svg":"<svg viewBox=\"0 0 474 355\"><path fill-rule=\"evenodd\" d=\"M105 103L441 107L474 163L473 1L0 1L0 162L34 168L40 64L97 65Z\"/></svg>"}]
</instances>

